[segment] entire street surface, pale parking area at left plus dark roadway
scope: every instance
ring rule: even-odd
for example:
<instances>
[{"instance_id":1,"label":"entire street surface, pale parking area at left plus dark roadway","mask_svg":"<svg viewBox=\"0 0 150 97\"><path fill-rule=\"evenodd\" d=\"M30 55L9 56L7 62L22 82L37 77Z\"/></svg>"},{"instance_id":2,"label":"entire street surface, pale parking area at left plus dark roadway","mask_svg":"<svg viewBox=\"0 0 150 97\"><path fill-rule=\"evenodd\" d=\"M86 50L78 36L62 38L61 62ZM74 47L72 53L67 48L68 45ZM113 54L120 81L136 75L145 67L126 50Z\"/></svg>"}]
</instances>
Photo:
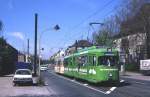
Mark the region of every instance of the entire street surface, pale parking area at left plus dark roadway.
<instances>
[{"instance_id":1,"label":"entire street surface, pale parking area at left plus dark roadway","mask_svg":"<svg viewBox=\"0 0 150 97\"><path fill-rule=\"evenodd\" d=\"M12 85L12 75L0 77L0 97L149 97L149 81L121 77L120 85L91 85L56 74L41 72L45 86ZM6 84L7 83L7 84Z\"/></svg>"}]
</instances>

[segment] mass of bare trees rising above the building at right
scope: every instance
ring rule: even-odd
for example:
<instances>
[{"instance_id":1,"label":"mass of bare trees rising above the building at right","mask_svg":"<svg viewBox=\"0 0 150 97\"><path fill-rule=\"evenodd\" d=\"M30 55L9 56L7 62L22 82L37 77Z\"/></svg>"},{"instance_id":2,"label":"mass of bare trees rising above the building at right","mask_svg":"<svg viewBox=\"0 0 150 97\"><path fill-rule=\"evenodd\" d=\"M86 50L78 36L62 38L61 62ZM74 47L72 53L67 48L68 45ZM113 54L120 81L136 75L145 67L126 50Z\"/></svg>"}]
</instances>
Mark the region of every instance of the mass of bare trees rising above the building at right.
<instances>
[{"instance_id":1,"label":"mass of bare trees rising above the building at right","mask_svg":"<svg viewBox=\"0 0 150 97\"><path fill-rule=\"evenodd\" d=\"M121 37L135 33L146 33L147 58L150 58L150 0L124 0L118 12L104 21L104 26L93 34L95 44L110 45L113 36ZM122 41L123 48L128 52L128 42Z\"/></svg>"}]
</instances>

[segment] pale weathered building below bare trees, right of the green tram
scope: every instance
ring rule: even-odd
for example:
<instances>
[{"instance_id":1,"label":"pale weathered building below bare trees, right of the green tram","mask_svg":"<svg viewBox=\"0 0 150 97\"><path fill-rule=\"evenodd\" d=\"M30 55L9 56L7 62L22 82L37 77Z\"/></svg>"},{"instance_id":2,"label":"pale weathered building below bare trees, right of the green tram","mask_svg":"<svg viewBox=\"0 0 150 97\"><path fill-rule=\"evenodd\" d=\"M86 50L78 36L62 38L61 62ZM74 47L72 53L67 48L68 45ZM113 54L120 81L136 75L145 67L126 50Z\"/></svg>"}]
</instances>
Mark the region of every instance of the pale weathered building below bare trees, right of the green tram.
<instances>
[{"instance_id":1,"label":"pale weathered building below bare trees, right of the green tram","mask_svg":"<svg viewBox=\"0 0 150 97\"><path fill-rule=\"evenodd\" d=\"M134 33L124 37L115 36L114 47L119 52L125 52L126 63L136 65L137 69L140 60L147 59L145 33Z\"/></svg>"}]
</instances>

